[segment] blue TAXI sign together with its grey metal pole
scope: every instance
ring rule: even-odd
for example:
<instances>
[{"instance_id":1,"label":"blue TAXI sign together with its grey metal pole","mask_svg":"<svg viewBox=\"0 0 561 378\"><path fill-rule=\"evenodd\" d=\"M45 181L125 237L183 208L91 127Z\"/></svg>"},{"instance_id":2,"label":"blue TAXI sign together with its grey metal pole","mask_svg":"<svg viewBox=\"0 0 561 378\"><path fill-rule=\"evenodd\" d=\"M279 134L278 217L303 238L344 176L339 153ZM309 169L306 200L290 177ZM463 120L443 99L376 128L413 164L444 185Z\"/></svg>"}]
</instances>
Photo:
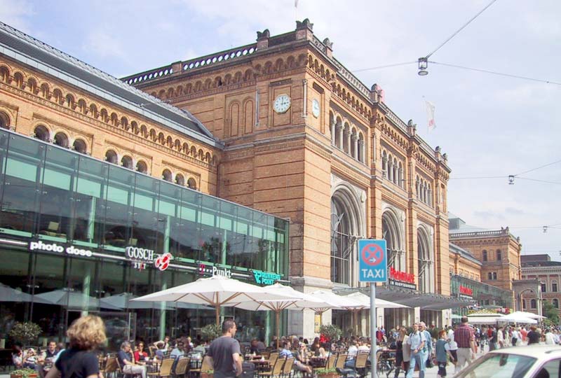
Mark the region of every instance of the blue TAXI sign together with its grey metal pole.
<instances>
[{"instance_id":1,"label":"blue TAXI sign together with its grey metal pole","mask_svg":"<svg viewBox=\"0 0 561 378\"><path fill-rule=\"evenodd\" d=\"M388 279L388 256L384 239L358 240L358 281L370 282L370 377L377 378L376 367L376 283Z\"/></svg>"}]
</instances>

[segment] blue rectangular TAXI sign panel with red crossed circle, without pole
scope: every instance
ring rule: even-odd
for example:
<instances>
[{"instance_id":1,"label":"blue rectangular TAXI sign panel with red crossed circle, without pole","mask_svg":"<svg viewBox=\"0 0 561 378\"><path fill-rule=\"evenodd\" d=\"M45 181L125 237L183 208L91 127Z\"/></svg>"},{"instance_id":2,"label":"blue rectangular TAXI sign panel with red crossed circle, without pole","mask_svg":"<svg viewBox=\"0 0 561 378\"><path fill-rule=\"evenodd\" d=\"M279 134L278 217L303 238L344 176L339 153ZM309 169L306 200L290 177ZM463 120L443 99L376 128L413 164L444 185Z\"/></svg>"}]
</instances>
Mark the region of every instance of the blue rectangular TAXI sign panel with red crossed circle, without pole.
<instances>
[{"instance_id":1,"label":"blue rectangular TAXI sign panel with red crossed circle, without pole","mask_svg":"<svg viewBox=\"0 0 561 378\"><path fill-rule=\"evenodd\" d=\"M358 281L386 282L388 256L384 239L358 240Z\"/></svg>"}]
</instances>

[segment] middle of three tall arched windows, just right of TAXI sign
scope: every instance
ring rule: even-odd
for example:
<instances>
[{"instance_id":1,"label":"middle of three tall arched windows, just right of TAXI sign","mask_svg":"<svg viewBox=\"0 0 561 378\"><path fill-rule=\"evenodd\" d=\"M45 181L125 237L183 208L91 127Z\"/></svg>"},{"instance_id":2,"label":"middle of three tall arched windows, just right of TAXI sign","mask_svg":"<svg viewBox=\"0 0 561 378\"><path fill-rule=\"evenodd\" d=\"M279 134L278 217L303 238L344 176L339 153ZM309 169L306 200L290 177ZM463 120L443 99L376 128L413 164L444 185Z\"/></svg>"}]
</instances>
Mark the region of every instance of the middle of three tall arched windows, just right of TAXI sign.
<instances>
[{"instance_id":1,"label":"middle of three tall arched windows, just right of TAXI sign","mask_svg":"<svg viewBox=\"0 0 561 378\"><path fill-rule=\"evenodd\" d=\"M405 230L403 223L391 210L384 211L381 216L381 235L386 240L388 250L388 266L400 272L405 272L405 248L403 237Z\"/></svg>"}]
</instances>

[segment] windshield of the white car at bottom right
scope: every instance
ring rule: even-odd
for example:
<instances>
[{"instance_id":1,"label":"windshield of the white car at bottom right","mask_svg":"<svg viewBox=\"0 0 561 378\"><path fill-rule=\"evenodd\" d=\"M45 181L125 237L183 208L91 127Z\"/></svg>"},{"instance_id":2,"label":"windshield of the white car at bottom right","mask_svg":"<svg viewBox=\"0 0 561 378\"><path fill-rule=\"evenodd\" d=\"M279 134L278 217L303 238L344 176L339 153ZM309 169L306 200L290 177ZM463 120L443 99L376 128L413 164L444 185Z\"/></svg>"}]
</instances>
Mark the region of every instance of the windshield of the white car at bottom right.
<instances>
[{"instance_id":1,"label":"windshield of the white car at bottom right","mask_svg":"<svg viewBox=\"0 0 561 378\"><path fill-rule=\"evenodd\" d=\"M536 358L510 353L489 353L456 378L522 378Z\"/></svg>"}]
</instances>

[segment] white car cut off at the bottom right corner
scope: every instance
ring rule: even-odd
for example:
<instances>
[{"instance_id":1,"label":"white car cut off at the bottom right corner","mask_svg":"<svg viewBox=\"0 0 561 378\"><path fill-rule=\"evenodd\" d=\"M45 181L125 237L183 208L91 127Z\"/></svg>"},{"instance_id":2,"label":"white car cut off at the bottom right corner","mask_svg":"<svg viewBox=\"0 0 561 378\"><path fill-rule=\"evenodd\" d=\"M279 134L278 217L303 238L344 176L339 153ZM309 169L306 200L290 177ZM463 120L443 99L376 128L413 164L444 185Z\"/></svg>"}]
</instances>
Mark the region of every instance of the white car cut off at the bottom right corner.
<instances>
[{"instance_id":1,"label":"white car cut off at the bottom right corner","mask_svg":"<svg viewBox=\"0 0 561 378\"><path fill-rule=\"evenodd\" d=\"M497 349L475 360L454 378L561 378L561 346Z\"/></svg>"}]
</instances>

